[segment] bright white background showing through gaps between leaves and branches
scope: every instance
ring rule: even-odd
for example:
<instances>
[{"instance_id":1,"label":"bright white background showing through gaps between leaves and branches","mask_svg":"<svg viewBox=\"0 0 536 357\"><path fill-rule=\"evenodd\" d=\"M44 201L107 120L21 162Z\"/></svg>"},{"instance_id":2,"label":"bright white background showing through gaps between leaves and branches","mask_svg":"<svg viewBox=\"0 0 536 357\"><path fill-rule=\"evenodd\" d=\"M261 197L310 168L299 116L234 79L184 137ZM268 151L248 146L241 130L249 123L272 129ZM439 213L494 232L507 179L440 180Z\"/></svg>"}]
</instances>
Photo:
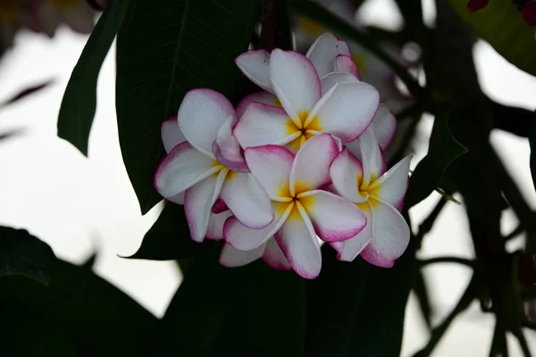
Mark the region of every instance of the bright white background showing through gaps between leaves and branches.
<instances>
[{"instance_id":1,"label":"bright white background showing through gaps between leaves and branches","mask_svg":"<svg viewBox=\"0 0 536 357\"><path fill-rule=\"evenodd\" d=\"M373 0L364 5L366 21L397 28L401 18L392 0ZM389 4L388 4L389 3ZM423 0L425 21L432 23L433 3ZM89 160L73 146L57 138L56 120L63 90L87 37L68 29L54 39L21 32L13 51L0 62L0 101L22 88L54 79L54 84L17 104L0 109L0 133L24 129L24 135L0 145L0 224L29 231L50 244L54 253L70 262L83 262L98 250L96 273L131 295L157 316L170 302L180 284L173 262L121 259L117 254L134 253L145 231L155 220L158 208L142 217L136 195L121 160L114 112L114 51L105 60L98 81L98 106L91 132ZM536 46L536 44L535 44ZM486 94L503 104L536 108L536 79L500 57L489 45L474 47L476 64ZM432 120L419 128L415 164L427 150ZM492 144L522 188L532 208L536 193L529 170L530 149L526 139L494 132ZM423 220L439 195L431 195L410 213L415 227ZM512 212L503 217L505 231L515 228ZM514 242L512 249L521 242ZM431 234L424 239L420 257L458 255L473 257L463 207L448 203ZM457 302L469 278L469 270L456 265L435 265L426 270L438 323ZM428 339L415 303L406 308L403 356L410 356ZM462 314L436 348L434 356L488 355L494 319L483 314L477 303ZM511 336L510 336L511 337ZM536 334L527 333L533 353ZM515 338L508 339L512 356L521 356Z\"/></svg>"}]
</instances>

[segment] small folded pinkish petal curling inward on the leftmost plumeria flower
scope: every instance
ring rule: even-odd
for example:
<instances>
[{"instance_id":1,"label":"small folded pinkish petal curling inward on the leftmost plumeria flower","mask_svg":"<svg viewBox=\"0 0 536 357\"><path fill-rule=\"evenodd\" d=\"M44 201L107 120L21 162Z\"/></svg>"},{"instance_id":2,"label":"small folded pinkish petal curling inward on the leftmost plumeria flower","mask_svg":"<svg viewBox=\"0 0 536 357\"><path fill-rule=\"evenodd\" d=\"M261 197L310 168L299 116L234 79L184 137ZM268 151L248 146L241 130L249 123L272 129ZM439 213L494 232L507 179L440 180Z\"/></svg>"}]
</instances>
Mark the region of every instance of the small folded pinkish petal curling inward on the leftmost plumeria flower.
<instances>
[{"instance_id":1,"label":"small folded pinkish petal curling inward on the leftmost plumeria flower","mask_svg":"<svg viewBox=\"0 0 536 357\"><path fill-rule=\"evenodd\" d=\"M213 143L213 154L216 160L229 170L247 172L246 160L240 153L239 141L232 135L236 116L230 115L216 133Z\"/></svg>"}]
</instances>

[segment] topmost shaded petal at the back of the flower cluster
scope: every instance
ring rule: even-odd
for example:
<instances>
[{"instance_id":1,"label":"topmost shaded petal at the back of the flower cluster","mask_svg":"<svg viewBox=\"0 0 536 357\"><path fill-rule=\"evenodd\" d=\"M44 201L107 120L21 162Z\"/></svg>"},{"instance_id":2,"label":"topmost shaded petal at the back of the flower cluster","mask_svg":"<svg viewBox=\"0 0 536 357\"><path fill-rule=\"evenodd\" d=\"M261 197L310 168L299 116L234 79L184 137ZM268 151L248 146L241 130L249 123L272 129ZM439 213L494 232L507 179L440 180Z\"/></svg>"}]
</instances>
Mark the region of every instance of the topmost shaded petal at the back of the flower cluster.
<instances>
[{"instance_id":1,"label":"topmost shaded petal at the back of the flower cluster","mask_svg":"<svg viewBox=\"0 0 536 357\"><path fill-rule=\"evenodd\" d=\"M318 76L322 77L335 70L335 59L339 54L350 55L348 44L327 32L316 38L306 57L313 62Z\"/></svg>"}]
</instances>

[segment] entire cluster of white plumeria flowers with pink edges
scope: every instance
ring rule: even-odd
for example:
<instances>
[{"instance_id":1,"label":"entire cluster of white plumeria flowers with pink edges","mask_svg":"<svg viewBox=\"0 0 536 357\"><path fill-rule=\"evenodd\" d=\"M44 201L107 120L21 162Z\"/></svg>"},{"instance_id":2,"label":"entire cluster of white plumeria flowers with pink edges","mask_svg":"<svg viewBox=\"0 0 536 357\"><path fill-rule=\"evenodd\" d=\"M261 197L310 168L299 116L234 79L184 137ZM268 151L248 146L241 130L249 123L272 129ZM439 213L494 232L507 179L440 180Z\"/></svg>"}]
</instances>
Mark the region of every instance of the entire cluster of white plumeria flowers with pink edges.
<instances>
[{"instance_id":1,"label":"entire cluster of white plumeria flowers with pink edges","mask_svg":"<svg viewBox=\"0 0 536 357\"><path fill-rule=\"evenodd\" d=\"M322 241L341 261L391 267L409 242L410 158L387 170L396 120L348 45L327 33L306 55L248 51L236 63L262 91L235 110L191 90L162 125L155 188L184 204L192 239L224 239L222 265L262 258L303 278L320 273Z\"/></svg>"}]
</instances>

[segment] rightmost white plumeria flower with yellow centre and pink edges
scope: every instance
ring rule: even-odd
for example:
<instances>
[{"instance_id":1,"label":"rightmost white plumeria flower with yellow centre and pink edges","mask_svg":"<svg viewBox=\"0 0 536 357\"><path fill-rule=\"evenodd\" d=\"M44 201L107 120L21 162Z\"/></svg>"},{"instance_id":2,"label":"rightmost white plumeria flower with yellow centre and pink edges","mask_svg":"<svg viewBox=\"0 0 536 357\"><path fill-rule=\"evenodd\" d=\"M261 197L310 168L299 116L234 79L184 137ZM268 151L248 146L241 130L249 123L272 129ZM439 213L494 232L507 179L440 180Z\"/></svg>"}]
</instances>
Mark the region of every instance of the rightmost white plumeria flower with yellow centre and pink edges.
<instances>
[{"instance_id":1,"label":"rightmost white plumeria flower with yellow centre and pink edges","mask_svg":"<svg viewBox=\"0 0 536 357\"><path fill-rule=\"evenodd\" d=\"M330 176L339 194L364 212L367 225L356 237L331 245L341 261L352 262L361 253L365 261L389 268L409 243L409 227L399 211L411 157L385 172L385 158L372 131L359 137L359 146L361 162L343 149L331 164Z\"/></svg>"}]
</instances>

